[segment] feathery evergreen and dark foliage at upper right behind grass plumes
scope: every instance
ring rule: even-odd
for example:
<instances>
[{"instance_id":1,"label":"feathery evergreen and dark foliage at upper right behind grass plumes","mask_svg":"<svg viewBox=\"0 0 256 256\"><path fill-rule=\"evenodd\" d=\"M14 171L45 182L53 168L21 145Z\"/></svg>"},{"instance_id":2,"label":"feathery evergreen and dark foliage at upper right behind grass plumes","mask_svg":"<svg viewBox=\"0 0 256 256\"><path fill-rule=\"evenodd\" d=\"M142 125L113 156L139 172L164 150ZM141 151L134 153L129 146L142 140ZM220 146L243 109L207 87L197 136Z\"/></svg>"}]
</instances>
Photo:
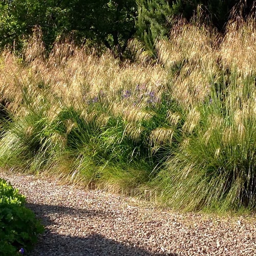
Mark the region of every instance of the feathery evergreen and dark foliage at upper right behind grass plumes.
<instances>
[{"instance_id":1,"label":"feathery evergreen and dark foliage at upper right behind grass plumes","mask_svg":"<svg viewBox=\"0 0 256 256\"><path fill-rule=\"evenodd\" d=\"M224 32L228 19L235 8L245 17L253 8L253 0L137 0L137 36L145 50L152 56L156 54L154 44L157 38L167 38L172 18L184 17L188 22L201 7L210 24Z\"/></svg>"}]
</instances>

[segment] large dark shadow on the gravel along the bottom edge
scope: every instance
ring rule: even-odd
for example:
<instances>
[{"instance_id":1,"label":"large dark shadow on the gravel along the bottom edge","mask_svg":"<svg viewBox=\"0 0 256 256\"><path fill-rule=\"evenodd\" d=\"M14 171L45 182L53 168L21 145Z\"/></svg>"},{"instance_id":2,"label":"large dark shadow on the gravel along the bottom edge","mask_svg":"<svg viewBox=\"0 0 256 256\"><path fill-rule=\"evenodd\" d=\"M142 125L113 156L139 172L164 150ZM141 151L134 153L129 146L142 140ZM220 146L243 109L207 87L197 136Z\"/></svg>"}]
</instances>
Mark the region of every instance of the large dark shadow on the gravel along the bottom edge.
<instances>
[{"instance_id":1,"label":"large dark shadow on the gravel along the bottom edge","mask_svg":"<svg viewBox=\"0 0 256 256\"><path fill-rule=\"evenodd\" d=\"M178 256L174 253L153 253L138 247L125 245L112 239L106 239L101 234L91 236L69 237L59 234L46 233L46 237L40 239L36 248L30 252L30 256Z\"/></svg>"}]
</instances>

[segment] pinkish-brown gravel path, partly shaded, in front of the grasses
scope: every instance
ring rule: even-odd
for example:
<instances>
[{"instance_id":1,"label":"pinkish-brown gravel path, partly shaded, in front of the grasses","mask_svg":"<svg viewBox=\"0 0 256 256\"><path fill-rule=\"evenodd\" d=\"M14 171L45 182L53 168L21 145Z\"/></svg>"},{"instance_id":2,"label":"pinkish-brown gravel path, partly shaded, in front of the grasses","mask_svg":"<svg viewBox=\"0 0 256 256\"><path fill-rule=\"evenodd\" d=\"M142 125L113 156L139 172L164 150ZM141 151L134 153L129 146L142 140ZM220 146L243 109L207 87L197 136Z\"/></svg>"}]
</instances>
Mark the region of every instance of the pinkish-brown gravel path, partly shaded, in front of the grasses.
<instances>
[{"instance_id":1,"label":"pinkish-brown gravel path, partly shaded, in front of the grasses","mask_svg":"<svg viewBox=\"0 0 256 256\"><path fill-rule=\"evenodd\" d=\"M256 216L177 214L103 191L0 173L46 231L30 256L256 255Z\"/></svg>"}]
</instances>

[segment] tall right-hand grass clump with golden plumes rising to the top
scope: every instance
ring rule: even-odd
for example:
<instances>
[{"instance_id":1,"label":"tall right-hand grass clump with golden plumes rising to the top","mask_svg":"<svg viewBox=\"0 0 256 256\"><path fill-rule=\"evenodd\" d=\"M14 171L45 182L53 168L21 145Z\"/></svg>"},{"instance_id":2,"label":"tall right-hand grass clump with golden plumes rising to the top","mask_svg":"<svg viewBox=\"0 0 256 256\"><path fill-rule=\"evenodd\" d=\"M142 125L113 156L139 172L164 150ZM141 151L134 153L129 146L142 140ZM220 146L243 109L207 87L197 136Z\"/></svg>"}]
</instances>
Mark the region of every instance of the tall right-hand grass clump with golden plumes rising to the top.
<instances>
[{"instance_id":1,"label":"tall right-hand grass clump with golden plumes rising to the top","mask_svg":"<svg viewBox=\"0 0 256 256\"><path fill-rule=\"evenodd\" d=\"M153 182L160 188L162 199L173 207L221 211L255 209L256 73L253 67L256 63L254 44L251 44L255 31L253 24L251 21L230 24L218 48L211 48L204 42L202 47L208 51L203 53L208 55L209 61L200 55L193 60L200 45L198 41L189 48L194 49L194 53L190 53L193 56L188 58L187 52L185 55L179 53L184 59L188 58L179 72L175 71L173 84L173 95L186 113L181 143ZM187 29L194 31L191 26L185 32ZM188 35L193 35L187 33L184 36L185 32L180 32L182 45L189 42ZM236 40L231 41L234 35ZM176 48L180 46L176 38L168 44ZM239 54L233 54L233 51ZM186 75L180 76L183 70ZM198 75L195 76L195 72ZM181 81L187 81L185 90Z\"/></svg>"}]
</instances>

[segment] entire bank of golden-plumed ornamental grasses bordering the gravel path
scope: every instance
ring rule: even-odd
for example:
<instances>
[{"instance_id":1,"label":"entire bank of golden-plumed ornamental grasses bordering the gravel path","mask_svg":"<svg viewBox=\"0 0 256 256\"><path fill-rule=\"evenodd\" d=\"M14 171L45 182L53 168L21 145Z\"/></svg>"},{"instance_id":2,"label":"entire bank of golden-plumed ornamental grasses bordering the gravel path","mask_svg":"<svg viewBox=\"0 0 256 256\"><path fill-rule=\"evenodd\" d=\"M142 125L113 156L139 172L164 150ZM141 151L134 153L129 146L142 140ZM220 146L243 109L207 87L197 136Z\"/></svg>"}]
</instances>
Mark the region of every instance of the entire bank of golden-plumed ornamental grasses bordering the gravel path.
<instances>
[{"instance_id":1,"label":"entire bank of golden-plumed ornamental grasses bordering the gravel path","mask_svg":"<svg viewBox=\"0 0 256 256\"><path fill-rule=\"evenodd\" d=\"M188 210L255 208L255 23L223 36L180 20L170 35L154 63L70 40L47 57L41 36L23 62L3 52L1 166Z\"/></svg>"}]
</instances>

